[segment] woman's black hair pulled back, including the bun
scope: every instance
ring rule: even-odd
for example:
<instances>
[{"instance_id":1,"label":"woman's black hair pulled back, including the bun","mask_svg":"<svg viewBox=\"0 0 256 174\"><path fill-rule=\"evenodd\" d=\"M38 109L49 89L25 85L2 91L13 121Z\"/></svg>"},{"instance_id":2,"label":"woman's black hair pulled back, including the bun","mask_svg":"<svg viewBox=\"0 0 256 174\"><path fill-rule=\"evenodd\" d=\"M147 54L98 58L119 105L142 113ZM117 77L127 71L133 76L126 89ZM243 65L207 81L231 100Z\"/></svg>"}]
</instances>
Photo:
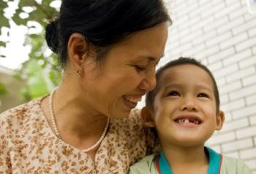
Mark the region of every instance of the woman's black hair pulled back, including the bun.
<instances>
[{"instance_id":1,"label":"woman's black hair pulled back, including the bun","mask_svg":"<svg viewBox=\"0 0 256 174\"><path fill-rule=\"evenodd\" d=\"M64 66L72 33L85 36L99 60L130 33L165 22L171 20L162 0L62 0L59 17L46 27L45 39Z\"/></svg>"}]
</instances>

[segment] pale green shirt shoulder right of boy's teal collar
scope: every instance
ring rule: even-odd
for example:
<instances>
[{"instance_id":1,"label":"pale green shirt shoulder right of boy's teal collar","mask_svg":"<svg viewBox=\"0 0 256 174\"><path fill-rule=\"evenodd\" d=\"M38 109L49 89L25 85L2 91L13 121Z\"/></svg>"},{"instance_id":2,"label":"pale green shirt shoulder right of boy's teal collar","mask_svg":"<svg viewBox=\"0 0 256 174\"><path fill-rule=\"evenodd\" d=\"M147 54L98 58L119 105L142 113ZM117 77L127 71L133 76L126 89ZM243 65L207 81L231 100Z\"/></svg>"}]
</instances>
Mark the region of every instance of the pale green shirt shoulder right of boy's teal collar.
<instances>
[{"instance_id":1,"label":"pale green shirt shoulder right of boy's teal collar","mask_svg":"<svg viewBox=\"0 0 256 174\"><path fill-rule=\"evenodd\" d=\"M233 157L223 157L222 159L222 174L251 174L252 171L241 160Z\"/></svg>"}]
</instances>

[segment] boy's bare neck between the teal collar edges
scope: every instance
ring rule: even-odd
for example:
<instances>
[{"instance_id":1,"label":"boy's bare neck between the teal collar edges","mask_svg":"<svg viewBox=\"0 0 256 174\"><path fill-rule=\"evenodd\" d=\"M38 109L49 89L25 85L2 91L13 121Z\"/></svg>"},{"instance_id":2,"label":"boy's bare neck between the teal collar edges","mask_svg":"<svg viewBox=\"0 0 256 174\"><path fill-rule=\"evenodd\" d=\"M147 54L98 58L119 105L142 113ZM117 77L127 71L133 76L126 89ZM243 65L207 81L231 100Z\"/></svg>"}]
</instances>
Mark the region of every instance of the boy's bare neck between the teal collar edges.
<instances>
[{"instance_id":1,"label":"boy's bare neck between the teal collar edges","mask_svg":"<svg viewBox=\"0 0 256 174\"><path fill-rule=\"evenodd\" d=\"M174 174L207 173L208 157L204 146L167 148L163 146L163 149Z\"/></svg>"}]
</instances>

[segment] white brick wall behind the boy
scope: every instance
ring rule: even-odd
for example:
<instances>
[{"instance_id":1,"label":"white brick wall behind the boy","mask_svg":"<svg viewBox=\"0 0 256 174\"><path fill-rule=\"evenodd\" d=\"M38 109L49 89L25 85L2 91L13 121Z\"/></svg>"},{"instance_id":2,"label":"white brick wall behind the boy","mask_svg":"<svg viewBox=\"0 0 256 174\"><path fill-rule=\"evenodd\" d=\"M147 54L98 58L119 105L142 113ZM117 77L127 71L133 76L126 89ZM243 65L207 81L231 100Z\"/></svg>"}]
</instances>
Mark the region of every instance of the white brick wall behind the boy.
<instances>
[{"instance_id":1,"label":"white brick wall behind the boy","mask_svg":"<svg viewBox=\"0 0 256 174\"><path fill-rule=\"evenodd\" d=\"M225 126L208 146L256 173L256 15L246 0L165 0L173 19L165 58L193 57L217 79Z\"/></svg>"}]
</instances>

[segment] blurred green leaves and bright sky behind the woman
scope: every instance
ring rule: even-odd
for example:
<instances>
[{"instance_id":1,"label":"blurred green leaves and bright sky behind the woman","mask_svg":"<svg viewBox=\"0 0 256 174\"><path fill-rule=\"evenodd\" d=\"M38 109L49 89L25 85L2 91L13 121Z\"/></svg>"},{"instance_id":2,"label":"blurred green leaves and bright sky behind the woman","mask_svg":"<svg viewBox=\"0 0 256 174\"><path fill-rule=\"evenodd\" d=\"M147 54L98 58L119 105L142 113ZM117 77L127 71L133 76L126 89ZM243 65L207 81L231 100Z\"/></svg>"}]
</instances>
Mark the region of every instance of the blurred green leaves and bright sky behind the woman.
<instances>
[{"instance_id":1,"label":"blurred green leaves and bright sky behind the woman","mask_svg":"<svg viewBox=\"0 0 256 174\"><path fill-rule=\"evenodd\" d=\"M57 57L45 43L45 26L61 1L0 1L0 112L48 94L59 84Z\"/></svg>"}]
</instances>

